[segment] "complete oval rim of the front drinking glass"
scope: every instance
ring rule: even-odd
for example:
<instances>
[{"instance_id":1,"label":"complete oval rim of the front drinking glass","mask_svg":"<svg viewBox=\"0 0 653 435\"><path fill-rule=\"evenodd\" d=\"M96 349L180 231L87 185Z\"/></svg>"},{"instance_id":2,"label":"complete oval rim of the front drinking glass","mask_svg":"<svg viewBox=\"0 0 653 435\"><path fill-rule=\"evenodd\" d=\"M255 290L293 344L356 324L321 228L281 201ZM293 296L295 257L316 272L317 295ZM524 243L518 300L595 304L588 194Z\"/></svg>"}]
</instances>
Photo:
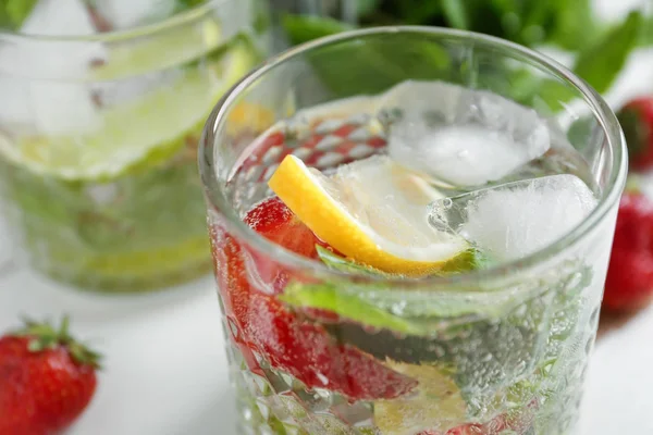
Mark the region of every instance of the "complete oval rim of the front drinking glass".
<instances>
[{"instance_id":1,"label":"complete oval rim of the front drinking glass","mask_svg":"<svg viewBox=\"0 0 653 435\"><path fill-rule=\"evenodd\" d=\"M489 269L473 270L460 274L445 276L427 276L417 279L405 279L399 277L378 277L367 276L361 274L349 274L329 269L321 262L307 259L285 248L266 239L251 229L236 213L235 209L229 203L229 200L223 195L223 189L219 185L219 181L214 171L214 146L215 133L222 124L224 124L234 102L247 91L247 89L263 77L275 66L281 65L292 59L301 55L305 52L313 51L329 47L334 44L345 42L347 40L356 40L369 36L392 35L398 33L409 34L429 34L431 36L447 37L456 40L483 42L489 46L501 47L507 49L528 60L537 62L544 67L547 73L552 73L558 78L564 79L581 95L583 101L591 110L591 114L597 120L599 125L605 132L607 147L611 150L613 162L609 169L609 177L606 189L600 198L600 202L592 212L579 225L575 226L563 238L557 239L553 244L546 245L529 256L513 260L509 262L497 264ZM368 27L365 29L355 29L343 32L336 35L318 38L299 46L287 49L250 71L246 76L242 77L232 88L223 95L220 101L213 108L199 142L198 162L199 171L209 207L215 209L222 214L222 224L237 240L244 240L248 246L256 249L267 258L281 265L288 266L292 270L300 270L312 275L318 275L321 278L333 278L338 281L356 281L364 282L383 282L391 286L414 289L432 289L439 290L445 286L465 286L472 285L473 293L485 293L486 289L478 286L479 282L484 281L501 281L509 277L515 272L525 272L538 268L540 264L546 263L563 250L572 247L578 241L582 240L591 231L600 224L612 210L612 207L619 200L621 190L626 184L627 173L627 152L626 141L621 132L621 127L614 112L609 109L603 98L583 79L576 76L568 69L559 64L557 61L549 58L545 54L520 46L518 44L504 40L497 37L488 36L475 32L458 30L434 26L381 26ZM233 173L235 169L230 169ZM467 290L466 290L467 291Z\"/></svg>"}]
</instances>

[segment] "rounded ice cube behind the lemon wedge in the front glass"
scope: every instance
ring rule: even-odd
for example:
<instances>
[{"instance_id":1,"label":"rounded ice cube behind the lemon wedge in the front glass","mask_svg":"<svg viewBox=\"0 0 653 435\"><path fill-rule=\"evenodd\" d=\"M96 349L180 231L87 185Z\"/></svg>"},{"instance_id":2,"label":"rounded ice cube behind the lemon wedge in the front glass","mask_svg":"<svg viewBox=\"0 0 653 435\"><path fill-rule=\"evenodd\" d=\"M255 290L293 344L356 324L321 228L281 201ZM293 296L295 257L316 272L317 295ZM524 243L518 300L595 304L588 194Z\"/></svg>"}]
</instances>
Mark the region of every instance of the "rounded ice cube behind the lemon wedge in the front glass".
<instances>
[{"instance_id":1,"label":"rounded ice cube behind the lemon wedge in the front glass","mask_svg":"<svg viewBox=\"0 0 653 435\"><path fill-rule=\"evenodd\" d=\"M444 82L405 82L382 105L398 109L389 152L434 181L481 186L509 175L551 147L538 113L498 95Z\"/></svg>"}]
</instances>

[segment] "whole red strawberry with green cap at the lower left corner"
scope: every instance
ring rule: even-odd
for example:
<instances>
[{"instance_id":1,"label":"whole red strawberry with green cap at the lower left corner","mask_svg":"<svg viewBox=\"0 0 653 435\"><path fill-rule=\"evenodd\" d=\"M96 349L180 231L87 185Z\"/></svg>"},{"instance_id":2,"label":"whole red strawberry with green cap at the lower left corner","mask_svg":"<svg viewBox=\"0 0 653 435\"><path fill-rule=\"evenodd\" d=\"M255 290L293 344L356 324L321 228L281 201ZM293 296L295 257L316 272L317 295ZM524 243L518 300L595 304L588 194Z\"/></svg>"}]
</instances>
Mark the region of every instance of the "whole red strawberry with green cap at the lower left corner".
<instances>
[{"instance_id":1,"label":"whole red strawberry with green cap at the lower left corner","mask_svg":"<svg viewBox=\"0 0 653 435\"><path fill-rule=\"evenodd\" d=\"M96 390L99 356L69 334L26 321L0 338L0 435L58 434L84 411Z\"/></svg>"}]
</instances>

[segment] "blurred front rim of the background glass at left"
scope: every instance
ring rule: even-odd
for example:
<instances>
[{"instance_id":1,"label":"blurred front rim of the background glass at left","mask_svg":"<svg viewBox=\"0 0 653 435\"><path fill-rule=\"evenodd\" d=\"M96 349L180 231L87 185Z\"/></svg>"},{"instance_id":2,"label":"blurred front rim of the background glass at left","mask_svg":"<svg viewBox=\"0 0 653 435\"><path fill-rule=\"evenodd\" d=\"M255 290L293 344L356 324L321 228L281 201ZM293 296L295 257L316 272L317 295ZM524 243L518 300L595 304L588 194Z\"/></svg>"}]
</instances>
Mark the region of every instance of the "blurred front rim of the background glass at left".
<instances>
[{"instance_id":1,"label":"blurred front rim of the background glass at left","mask_svg":"<svg viewBox=\"0 0 653 435\"><path fill-rule=\"evenodd\" d=\"M195 21L201 20L213 12L214 8L220 7L222 3L235 3L242 0L208 0L205 3L198 4L188 9L168 16L163 20L155 23L145 25L138 25L130 28L102 32L91 35L66 35L66 36L48 36L48 35L29 35L22 34L13 30L0 29L0 41L7 40L16 44L21 42L120 42L130 39L136 39L141 37L151 37L157 34L161 34L176 27L190 24Z\"/></svg>"}]
</instances>

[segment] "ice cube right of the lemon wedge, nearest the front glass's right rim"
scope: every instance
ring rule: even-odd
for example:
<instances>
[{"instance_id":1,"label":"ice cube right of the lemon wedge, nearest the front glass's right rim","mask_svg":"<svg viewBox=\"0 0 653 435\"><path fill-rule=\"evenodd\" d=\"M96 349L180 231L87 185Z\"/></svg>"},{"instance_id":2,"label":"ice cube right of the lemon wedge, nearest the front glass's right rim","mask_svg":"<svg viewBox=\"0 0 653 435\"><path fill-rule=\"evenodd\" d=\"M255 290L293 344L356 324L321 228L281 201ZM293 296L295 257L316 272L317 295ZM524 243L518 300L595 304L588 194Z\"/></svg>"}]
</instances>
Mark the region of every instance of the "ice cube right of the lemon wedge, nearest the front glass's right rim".
<instances>
[{"instance_id":1,"label":"ice cube right of the lemon wedge, nearest the front glass's right rim","mask_svg":"<svg viewBox=\"0 0 653 435\"><path fill-rule=\"evenodd\" d=\"M455 232L495 261L526 257L580 224L596 198L576 175L507 183L434 201L429 221Z\"/></svg>"}]
</instances>

